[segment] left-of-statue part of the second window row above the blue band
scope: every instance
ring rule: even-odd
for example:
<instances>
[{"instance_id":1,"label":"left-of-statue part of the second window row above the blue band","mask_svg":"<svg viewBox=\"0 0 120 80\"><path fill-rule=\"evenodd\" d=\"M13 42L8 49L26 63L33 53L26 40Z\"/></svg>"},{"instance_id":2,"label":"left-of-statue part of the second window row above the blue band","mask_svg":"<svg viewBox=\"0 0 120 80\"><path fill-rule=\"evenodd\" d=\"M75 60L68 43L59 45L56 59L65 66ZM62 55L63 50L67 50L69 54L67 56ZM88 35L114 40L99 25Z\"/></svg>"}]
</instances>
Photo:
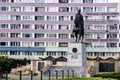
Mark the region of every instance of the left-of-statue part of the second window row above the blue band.
<instances>
[{"instance_id":1,"label":"left-of-statue part of the second window row above the blue band","mask_svg":"<svg viewBox=\"0 0 120 80\"><path fill-rule=\"evenodd\" d=\"M9 33L0 33L0 37L8 37ZM44 33L10 33L10 38L57 38L57 34ZM46 37L45 37L46 36ZM58 34L58 38L69 38L69 34Z\"/></svg>"}]
</instances>

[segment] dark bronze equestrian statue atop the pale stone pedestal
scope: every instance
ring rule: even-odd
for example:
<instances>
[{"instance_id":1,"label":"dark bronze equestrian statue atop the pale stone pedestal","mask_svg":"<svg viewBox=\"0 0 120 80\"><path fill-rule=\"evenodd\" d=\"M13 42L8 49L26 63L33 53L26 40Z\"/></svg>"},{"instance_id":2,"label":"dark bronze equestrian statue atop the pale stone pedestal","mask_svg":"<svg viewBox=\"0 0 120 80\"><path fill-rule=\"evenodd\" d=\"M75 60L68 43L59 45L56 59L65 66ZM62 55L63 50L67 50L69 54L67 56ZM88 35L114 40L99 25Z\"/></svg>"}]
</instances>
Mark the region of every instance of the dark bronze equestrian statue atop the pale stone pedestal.
<instances>
[{"instance_id":1,"label":"dark bronze equestrian statue atop the pale stone pedestal","mask_svg":"<svg viewBox=\"0 0 120 80\"><path fill-rule=\"evenodd\" d=\"M75 27L73 28L71 35L71 37L76 37L75 42L79 42L81 40L81 37L82 37L81 42L83 42L84 39L84 20L80 12L81 10L79 9L78 13L75 15L74 20Z\"/></svg>"}]
</instances>

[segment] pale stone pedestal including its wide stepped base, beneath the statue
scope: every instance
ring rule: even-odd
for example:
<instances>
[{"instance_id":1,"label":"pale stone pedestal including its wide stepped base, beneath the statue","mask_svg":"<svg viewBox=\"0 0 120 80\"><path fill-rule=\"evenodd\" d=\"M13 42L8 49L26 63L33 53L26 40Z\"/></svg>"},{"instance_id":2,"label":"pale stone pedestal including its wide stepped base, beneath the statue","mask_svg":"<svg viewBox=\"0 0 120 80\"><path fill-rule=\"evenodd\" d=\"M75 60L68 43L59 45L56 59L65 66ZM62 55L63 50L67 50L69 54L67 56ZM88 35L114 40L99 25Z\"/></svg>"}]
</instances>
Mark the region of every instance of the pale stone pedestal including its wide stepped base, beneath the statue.
<instances>
[{"instance_id":1,"label":"pale stone pedestal including its wide stepped base, beneath the statue","mask_svg":"<svg viewBox=\"0 0 120 80\"><path fill-rule=\"evenodd\" d=\"M69 43L68 45L68 56L67 58L67 66L51 66L49 70L51 71L51 75L56 75L55 71L58 71L58 75L62 75L62 71L64 72L64 76L72 77L74 72L74 77L86 77L86 48L85 44L82 43ZM46 73L48 74L48 73Z\"/></svg>"}]
</instances>

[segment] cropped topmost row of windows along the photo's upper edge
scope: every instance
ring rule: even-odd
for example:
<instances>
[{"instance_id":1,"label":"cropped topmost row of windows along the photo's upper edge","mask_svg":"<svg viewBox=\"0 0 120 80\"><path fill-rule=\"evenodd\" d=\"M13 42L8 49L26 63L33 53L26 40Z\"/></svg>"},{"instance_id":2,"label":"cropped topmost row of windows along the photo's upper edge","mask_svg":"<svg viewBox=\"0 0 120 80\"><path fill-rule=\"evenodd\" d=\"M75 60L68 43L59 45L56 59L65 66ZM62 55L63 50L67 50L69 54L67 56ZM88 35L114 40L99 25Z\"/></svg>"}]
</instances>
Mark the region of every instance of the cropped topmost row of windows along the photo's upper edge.
<instances>
[{"instance_id":1,"label":"cropped topmost row of windows along the photo's upper edge","mask_svg":"<svg viewBox=\"0 0 120 80\"><path fill-rule=\"evenodd\" d=\"M105 3L107 0L0 0L12 3Z\"/></svg>"}]
</instances>

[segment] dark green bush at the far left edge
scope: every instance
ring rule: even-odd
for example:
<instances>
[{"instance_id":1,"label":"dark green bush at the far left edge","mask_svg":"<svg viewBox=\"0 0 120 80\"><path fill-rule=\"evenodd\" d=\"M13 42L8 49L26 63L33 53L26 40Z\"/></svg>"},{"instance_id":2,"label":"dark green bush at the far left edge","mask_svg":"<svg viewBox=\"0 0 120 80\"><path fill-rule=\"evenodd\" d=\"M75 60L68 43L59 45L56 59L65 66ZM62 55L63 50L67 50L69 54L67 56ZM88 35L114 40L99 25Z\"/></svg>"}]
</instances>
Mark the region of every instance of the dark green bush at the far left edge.
<instances>
[{"instance_id":1,"label":"dark green bush at the far left edge","mask_svg":"<svg viewBox=\"0 0 120 80\"><path fill-rule=\"evenodd\" d=\"M7 56L0 56L0 77L3 77L5 71L11 70L12 59Z\"/></svg>"}]
</instances>

